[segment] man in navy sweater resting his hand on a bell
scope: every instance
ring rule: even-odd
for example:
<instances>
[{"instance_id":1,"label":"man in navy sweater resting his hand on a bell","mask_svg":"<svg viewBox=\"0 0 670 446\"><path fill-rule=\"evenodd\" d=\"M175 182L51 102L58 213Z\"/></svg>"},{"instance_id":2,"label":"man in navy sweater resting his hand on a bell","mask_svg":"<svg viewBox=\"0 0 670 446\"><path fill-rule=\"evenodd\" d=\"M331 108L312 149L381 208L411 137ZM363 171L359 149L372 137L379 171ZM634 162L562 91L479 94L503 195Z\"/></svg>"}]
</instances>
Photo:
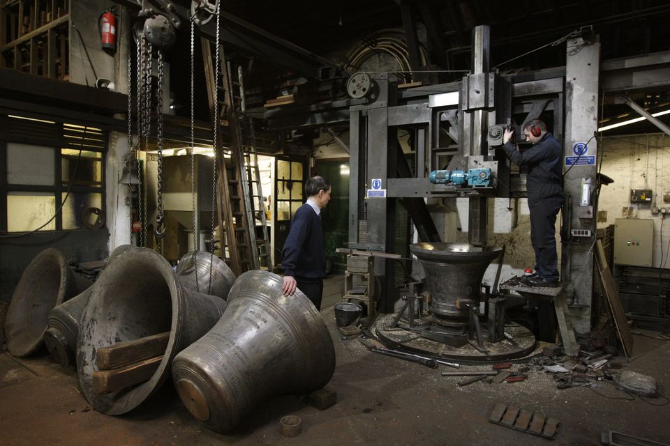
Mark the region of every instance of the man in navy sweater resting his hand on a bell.
<instances>
[{"instance_id":1,"label":"man in navy sweater resting his hand on a bell","mask_svg":"<svg viewBox=\"0 0 670 446\"><path fill-rule=\"evenodd\" d=\"M326 275L321 210L330 201L330 183L321 176L313 176L305 184L305 195L307 201L295 211L284 242L281 291L285 295L293 295L295 289L299 288L320 310L323 278Z\"/></svg>"}]
</instances>

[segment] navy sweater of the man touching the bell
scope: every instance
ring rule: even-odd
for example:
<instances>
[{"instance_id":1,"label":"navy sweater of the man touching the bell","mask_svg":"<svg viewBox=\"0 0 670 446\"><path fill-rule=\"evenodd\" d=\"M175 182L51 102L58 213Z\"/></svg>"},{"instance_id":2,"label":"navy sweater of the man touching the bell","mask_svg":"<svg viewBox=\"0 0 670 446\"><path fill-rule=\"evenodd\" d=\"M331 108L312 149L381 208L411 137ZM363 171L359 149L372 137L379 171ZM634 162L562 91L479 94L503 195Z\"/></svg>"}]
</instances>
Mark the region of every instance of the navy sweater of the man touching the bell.
<instances>
[{"instance_id":1,"label":"navy sweater of the man touching the bell","mask_svg":"<svg viewBox=\"0 0 670 446\"><path fill-rule=\"evenodd\" d=\"M304 279L323 279L326 276L321 218L306 203L293 215L291 229L284 242L281 266L287 276Z\"/></svg>"}]
</instances>

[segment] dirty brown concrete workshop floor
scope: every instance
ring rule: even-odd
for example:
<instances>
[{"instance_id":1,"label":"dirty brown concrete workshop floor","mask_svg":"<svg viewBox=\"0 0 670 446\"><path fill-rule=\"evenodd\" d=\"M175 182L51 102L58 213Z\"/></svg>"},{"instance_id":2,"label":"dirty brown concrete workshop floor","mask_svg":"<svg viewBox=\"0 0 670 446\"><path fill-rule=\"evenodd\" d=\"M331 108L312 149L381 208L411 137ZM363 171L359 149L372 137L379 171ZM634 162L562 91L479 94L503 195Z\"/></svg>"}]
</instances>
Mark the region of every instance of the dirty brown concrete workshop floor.
<instances>
[{"instance_id":1,"label":"dirty brown concrete workshop floor","mask_svg":"<svg viewBox=\"0 0 670 446\"><path fill-rule=\"evenodd\" d=\"M611 385L557 390L549 374L533 372L521 383L459 387L427 369L375 355L357 339L336 334L333 305L341 277L327 279L322 315L336 346L337 367L328 387L338 403L317 410L293 395L259 406L232 435L202 426L181 405L171 383L134 412L121 417L97 413L82 397L74 370L45 355L16 360L0 355L0 445L546 445L550 440L488 422L496 403L539 411L560 420L555 445L597 445L601 431L613 430L670 443L670 405L649 403ZM654 334L650 332L649 334ZM444 366L442 366L444 367ZM462 367L472 368L472 367ZM449 369L447 367L447 369ZM670 343L635 337L627 369L653 376L668 392ZM301 417L295 438L279 433L283 415Z\"/></svg>"}]
</instances>

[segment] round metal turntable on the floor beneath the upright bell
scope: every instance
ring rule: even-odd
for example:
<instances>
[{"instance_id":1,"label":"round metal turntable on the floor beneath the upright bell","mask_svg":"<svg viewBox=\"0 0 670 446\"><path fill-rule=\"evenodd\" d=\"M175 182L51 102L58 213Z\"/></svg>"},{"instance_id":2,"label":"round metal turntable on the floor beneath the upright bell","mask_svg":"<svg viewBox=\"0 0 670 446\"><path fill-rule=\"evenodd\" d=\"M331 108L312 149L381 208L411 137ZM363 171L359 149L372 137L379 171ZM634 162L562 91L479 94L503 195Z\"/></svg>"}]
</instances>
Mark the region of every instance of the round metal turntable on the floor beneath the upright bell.
<instances>
[{"instance_id":1,"label":"round metal turntable on the floor beneath the upright bell","mask_svg":"<svg viewBox=\"0 0 670 446\"><path fill-rule=\"evenodd\" d=\"M505 339L500 342L489 342L486 338L486 330L483 329L484 348L478 351L470 344L462 347L452 347L441 342L425 339L415 331L405 330L401 326L391 328L395 314L387 314L377 319L375 331L382 343L389 348L401 348L417 355L429 355L443 357L449 360L470 362L496 362L500 360L511 360L524 357L535 349L535 336L528 328L521 325L505 325L505 332L509 334L514 342ZM476 344L476 341L472 341ZM517 345L514 345L514 344Z\"/></svg>"}]
</instances>

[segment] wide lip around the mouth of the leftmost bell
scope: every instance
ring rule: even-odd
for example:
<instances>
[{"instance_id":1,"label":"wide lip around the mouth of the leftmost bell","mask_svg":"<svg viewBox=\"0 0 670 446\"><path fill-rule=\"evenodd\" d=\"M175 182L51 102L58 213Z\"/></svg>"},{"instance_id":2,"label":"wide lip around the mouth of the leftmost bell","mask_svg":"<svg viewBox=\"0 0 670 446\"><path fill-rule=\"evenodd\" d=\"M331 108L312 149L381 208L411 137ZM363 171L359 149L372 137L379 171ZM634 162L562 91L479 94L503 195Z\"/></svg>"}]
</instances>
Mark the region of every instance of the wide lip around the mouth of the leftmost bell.
<instances>
[{"instance_id":1,"label":"wide lip around the mouth of the leftmost bell","mask_svg":"<svg viewBox=\"0 0 670 446\"><path fill-rule=\"evenodd\" d=\"M17 300L15 299L17 292L21 289L22 286L26 287L26 281L28 280L28 277L30 277L30 273L32 270L35 270L40 266L40 263L43 261L47 261L48 259L56 259L58 262L58 268L60 270L60 283L59 283L59 292L56 295L56 300L54 301L54 305L49 309L47 312L47 323L45 324L42 332L36 336L32 337L32 339L29 339L28 341L23 341L19 345L13 345L16 344L16 339L17 337L10 337L9 336L9 328L12 327L13 325L16 325L14 321L12 321L11 324L8 324L7 321L10 321L11 316L15 312L19 312L20 309L22 308L21 305L24 303L22 302L21 299ZM39 271L38 271L39 272ZM7 308L7 315L5 317L5 337L6 337L6 345L7 345L7 350L9 353L14 356L14 357L28 357L34 353L36 353L40 348L42 348L44 344L44 333L47 331L47 328L49 326L49 313L51 312L54 307L57 307L58 305L61 305L65 299L65 293L66 293L66 284L68 282L68 279L70 278L70 274L74 274L72 271L70 271L70 266L68 266L68 261L65 258L65 254L61 252L60 249L50 247L47 249L43 249L40 251L34 259L28 264L26 269L23 271L23 274L21 275L21 278L19 279L19 283L16 285L16 288L14 289L14 292L12 293L12 299L9 302L9 307ZM24 277L26 278L24 281ZM74 280L74 278L72 278ZM90 288L90 287L89 287ZM22 295L28 295L29 293L22 293ZM27 303L27 302L26 302ZM22 336L20 336L22 337Z\"/></svg>"}]
</instances>

